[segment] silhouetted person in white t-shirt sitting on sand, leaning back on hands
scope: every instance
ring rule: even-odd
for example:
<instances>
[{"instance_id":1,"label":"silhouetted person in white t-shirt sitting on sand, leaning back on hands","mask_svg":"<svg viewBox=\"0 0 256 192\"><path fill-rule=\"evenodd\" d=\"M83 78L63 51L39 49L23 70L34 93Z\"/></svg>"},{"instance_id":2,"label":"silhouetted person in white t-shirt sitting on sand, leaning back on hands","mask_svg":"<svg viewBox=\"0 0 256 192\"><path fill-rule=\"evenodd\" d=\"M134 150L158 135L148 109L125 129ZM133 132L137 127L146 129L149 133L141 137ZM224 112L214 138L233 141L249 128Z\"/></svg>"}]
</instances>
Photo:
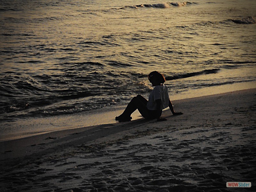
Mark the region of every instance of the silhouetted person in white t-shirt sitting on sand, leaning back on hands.
<instances>
[{"instance_id":1,"label":"silhouetted person in white t-shirt sitting on sand, leaning back on hands","mask_svg":"<svg viewBox=\"0 0 256 192\"><path fill-rule=\"evenodd\" d=\"M150 93L148 100L141 95L133 97L128 103L124 112L116 117L116 121L124 122L131 121L132 113L138 109L140 114L146 119L157 119L157 121L165 121L167 119L160 118L162 110L169 107L173 115L182 115L183 113L174 112L172 102L169 99L168 88L164 84L164 76L153 71L148 75L149 82L155 86L153 91Z\"/></svg>"}]
</instances>

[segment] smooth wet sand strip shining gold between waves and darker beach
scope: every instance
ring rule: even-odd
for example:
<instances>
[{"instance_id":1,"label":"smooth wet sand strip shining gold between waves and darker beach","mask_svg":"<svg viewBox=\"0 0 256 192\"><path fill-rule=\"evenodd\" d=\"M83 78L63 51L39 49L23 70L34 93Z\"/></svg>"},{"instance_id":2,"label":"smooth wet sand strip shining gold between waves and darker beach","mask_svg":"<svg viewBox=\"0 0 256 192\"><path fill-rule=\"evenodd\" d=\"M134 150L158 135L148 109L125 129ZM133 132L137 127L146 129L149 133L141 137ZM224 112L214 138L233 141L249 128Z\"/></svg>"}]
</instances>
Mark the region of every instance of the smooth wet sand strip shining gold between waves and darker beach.
<instances>
[{"instance_id":1,"label":"smooth wet sand strip shining gold between waves and darker beach","mask_svg":"<svg viewBox=\"0 0 256 192\"><path fill-rule=\"evenodd\" d=\"M174 102L177 100L191 99L202 96L210 96L215 94L222 94L234 91L246 90L243 89L253 89L256 88L256 82L251 83L235 83L228 85L220 85L215 87L206 87L202 88L200 91L197 89L190 90L182 94L173 94L170 95L170 99ZM116 124L118 121L115 121L115 117L120 115L126 105L123 106L108 106L105 108L95 109L92 111L84 111L75 114L67 114L60 116L52 117L43 117L43 118L28 118L24 120L18 120L15 122L6 123L6 129L8 127L17 127L16 131L18 133L13 134L12 132L5 134L3 132L0 135L0 143L8 140L16 140L25 137L31 137L40 134L46 134L49 132L72 130L83 127L90 127L102 124ZM165 110L168 110L165 109ZM143 118L141 117L138 110L132 114L132 120L137 120ZM4 123L2 123L2 127ZM10 129L12 130L12 129ZM22 132L24 131L24 132Z\"/></svg>"}]
</instances>

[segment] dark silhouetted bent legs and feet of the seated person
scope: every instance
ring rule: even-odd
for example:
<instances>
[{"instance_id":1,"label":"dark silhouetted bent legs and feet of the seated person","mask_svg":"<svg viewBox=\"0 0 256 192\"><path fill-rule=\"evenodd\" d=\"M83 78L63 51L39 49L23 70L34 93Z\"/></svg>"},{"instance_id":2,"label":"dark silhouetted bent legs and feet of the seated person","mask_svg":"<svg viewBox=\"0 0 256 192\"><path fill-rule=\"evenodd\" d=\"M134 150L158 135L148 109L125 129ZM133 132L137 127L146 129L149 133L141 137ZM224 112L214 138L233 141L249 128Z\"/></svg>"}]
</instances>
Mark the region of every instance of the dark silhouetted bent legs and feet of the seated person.
<instances>
[{"instance_id":1,"label":"dark silhouetted bent legs and feet of the seated person","mask_svg":"<svg viewBox=\"0 0 256 192\"><path fill-rule=\"evenodd\" d=\"M130 116L136 109L139 110L140 114L143 117L147 118L148 117L147 102L148 101L141 95L137 95L136 97L133 97L132 100L128 103L124 112L120 116L116 117L116 120L124 120L124 121L131 120Z\"/></svg>"}]
</instances>

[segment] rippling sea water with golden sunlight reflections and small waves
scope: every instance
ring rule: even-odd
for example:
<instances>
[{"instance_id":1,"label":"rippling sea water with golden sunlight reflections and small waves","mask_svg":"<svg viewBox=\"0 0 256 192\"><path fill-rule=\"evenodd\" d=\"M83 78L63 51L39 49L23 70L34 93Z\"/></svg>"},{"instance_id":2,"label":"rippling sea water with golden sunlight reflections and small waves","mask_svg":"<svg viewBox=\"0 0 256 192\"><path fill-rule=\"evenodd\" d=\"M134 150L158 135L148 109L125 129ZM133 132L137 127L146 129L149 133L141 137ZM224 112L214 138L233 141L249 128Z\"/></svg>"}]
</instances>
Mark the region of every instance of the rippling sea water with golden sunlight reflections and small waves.
<instances>
[{"instance_id":1,"label":"rippling sea water with golden sunlight reflections and small waves","mask_svg":"<svg viewBox=\"0 0 256 192\"><path fill-rule=\"evenodd\" d=\"M0 0L0 133L148 97L153 70L171 98L253 84L255 18L251 0Z\"/></svg>"}]
</instances>

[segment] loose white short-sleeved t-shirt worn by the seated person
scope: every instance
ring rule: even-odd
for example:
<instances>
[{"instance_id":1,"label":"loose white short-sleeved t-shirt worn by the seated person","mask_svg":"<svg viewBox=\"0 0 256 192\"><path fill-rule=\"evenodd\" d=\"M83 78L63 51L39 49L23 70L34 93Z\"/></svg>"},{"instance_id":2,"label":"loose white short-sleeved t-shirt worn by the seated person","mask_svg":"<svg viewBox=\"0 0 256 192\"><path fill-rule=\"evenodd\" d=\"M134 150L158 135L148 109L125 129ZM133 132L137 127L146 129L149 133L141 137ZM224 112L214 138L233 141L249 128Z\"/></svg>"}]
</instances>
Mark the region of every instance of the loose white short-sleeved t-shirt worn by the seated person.
<instances>
[{"instance_id":1,"label":"loose white short-sleeved t-shirt worn by the seated person","mask_svg":"<svg viewBox=\"0 0 256 192\"><path fill-rule=\"evenodd\" d=\"M149 110L156 110L156 100L161 99L161 109L169 106L168 87L165 84L157 85L149 94L147 108Z\"/></svg>"}]
</instances>

